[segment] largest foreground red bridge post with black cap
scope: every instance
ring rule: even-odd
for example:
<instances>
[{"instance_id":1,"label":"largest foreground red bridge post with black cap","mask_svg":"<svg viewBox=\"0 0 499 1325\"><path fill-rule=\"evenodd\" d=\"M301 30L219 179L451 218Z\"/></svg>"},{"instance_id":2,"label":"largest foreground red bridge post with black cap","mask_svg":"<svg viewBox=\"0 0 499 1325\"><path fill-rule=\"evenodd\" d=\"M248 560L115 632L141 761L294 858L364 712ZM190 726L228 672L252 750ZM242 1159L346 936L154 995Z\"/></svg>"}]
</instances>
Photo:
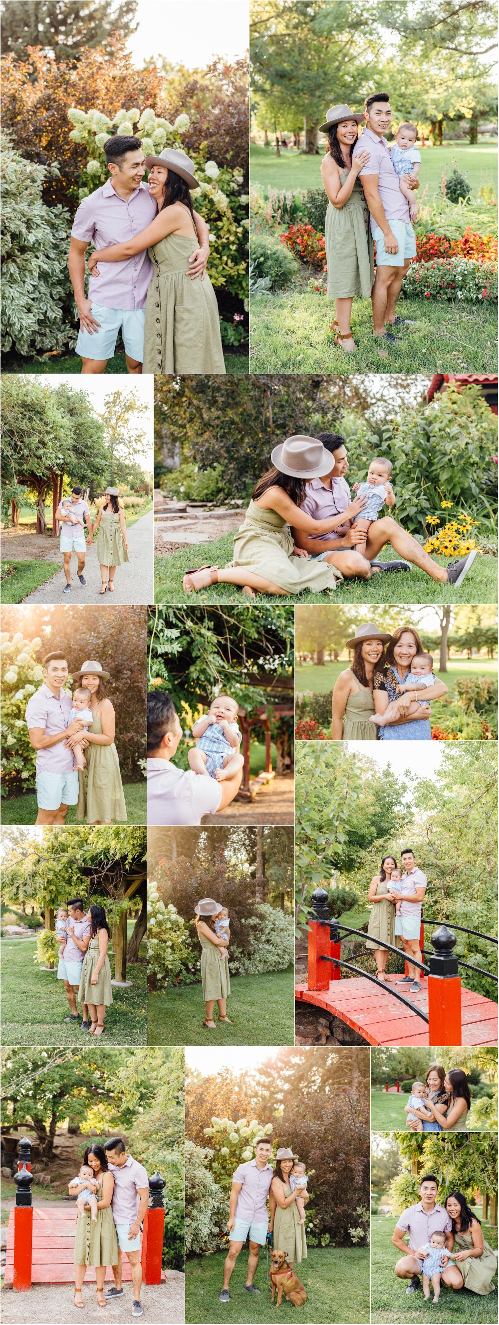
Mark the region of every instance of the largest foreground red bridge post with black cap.
<instances>
[{"instance_id":1,"label":"largest foreground red bridge post with black cap","mask_svg":"<svg viewBox=\"0 0 499 1325\"><path fill-rule=\"evenodd\" d=\"M430 942L434 951L428 977L429 1044L461 1044L461 977L453 953L455 934L441 925Z\"/></svg>"}]
</instances>

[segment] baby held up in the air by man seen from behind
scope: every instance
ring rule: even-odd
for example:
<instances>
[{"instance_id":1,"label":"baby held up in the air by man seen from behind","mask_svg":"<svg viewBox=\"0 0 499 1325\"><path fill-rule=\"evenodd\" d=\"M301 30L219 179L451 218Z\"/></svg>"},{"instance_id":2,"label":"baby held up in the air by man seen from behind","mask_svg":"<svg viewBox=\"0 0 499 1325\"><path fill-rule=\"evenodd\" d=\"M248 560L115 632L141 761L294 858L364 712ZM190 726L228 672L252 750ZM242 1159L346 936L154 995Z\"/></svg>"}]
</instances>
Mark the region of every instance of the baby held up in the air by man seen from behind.
<instances>
[{"instance_id":1,"label":"baby held up in the air by man seen from behind","mask_svg":"<svg viewBox=\"0 0 499 1325\"><path fill-rule=\"evenodd\" d=\"M212 700L209 713L195 722L192 735L196 738L196 749L188 751L193 772L203 772L206 778L224 782L242 768L244 758L240 754L242 737L236 722L237 710L237 700L232 700L230 694L218 694Z\"/></svg>"}]
</instances>

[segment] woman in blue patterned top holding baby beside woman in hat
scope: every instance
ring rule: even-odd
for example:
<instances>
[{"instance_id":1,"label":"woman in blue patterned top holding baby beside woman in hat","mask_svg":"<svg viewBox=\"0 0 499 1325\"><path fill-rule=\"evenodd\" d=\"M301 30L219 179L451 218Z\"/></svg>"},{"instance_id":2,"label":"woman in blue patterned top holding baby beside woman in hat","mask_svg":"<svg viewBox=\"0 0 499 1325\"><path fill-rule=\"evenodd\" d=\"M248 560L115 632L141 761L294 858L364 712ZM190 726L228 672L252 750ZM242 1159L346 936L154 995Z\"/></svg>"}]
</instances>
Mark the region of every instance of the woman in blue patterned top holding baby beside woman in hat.
<instances>
[{"instance_id":1,"label":"woman in blue patterned top holding baby beside woman in hat","mask_svg":"<svg viewBox=\"0 0 499 1325\"><path fill-rule=\"evenodd\" d=\"M375 672L373 698L376 713L384 713L392 700L400 698L397 696L397 685L401 685L406 680L413 657L424 652L418 632L414 631L413 625L400 625L393 632L385 649L386 665L383 670ZM435 680L434 685L425 690L425 701L442 700L445 694L447 694L447 686L443 685L443 681ZM372 726L375 725L372 723ZM421 717L416 716L413 719L398 718L389 726L380 727L380 739L431 741L430 709L426 702L421 708Z\"/></svg>"}]
</instances>

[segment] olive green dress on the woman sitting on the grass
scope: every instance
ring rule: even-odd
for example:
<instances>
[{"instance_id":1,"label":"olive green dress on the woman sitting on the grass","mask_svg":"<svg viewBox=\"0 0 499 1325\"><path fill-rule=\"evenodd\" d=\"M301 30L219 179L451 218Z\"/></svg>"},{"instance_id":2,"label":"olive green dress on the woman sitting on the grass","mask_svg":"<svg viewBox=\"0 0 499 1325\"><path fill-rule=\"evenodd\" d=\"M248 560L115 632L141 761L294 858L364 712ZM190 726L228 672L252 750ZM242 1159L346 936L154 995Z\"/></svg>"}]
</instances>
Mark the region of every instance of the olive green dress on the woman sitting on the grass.
<instances>
[{"instance_id":1,"label":"olive green dress on the woman sitting on the grass","mask_svg":"<svg viewBox=\"0 0 499 1325\"><path fill-rule=\"evenodd\" d=\"M343 579L336 566L296 556L293 547L291 529L282 515L275 510L263 510L251 498L245 522L236 530L234 555L225 570L245 566L287 594L302 594L304 588L316 594L323 588L336 588L336 580Z\"/></svg>"}]
</instances>

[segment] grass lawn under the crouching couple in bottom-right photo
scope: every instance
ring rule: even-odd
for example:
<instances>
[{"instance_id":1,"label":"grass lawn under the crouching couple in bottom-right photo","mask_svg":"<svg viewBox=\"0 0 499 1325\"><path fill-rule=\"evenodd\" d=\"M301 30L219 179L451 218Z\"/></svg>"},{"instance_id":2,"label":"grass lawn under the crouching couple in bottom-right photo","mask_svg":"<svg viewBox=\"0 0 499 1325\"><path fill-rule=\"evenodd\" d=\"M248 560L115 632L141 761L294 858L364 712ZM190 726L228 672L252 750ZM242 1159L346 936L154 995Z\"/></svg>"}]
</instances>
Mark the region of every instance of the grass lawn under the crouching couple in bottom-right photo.
<instances>
[{"instance_id":1,"label":"grass lawn under the crouching couple in bottom-right photo","mask_svg":"<svg viewBox=\"0 0 499 1325\"><path fill-rule=\"evenodd\" d=\"M434 1318L433 1309L425 1302L422 1291L405 1295L406 1283L396 1279L393 1267L398 1259L392 1247L392 1234L396 1220L380 1215L371 1218L371 1320L372 1325L401 1325L401 1322L428 1321ZM498 1228L482 1223L483 1236L490 1247L498 1246ZM433 1298L433 1293L431 1293ZM462 1321L463 1325L492 1325L498 1320L498 1295L487 1293L479 1297L462 1288L455 1293L442 1284L441 1300L437 1308L445 1325Z\"/></svg>"}]
</instances>

